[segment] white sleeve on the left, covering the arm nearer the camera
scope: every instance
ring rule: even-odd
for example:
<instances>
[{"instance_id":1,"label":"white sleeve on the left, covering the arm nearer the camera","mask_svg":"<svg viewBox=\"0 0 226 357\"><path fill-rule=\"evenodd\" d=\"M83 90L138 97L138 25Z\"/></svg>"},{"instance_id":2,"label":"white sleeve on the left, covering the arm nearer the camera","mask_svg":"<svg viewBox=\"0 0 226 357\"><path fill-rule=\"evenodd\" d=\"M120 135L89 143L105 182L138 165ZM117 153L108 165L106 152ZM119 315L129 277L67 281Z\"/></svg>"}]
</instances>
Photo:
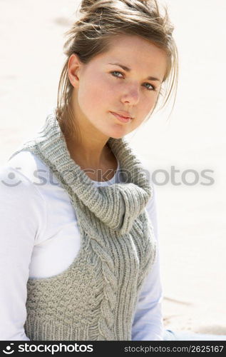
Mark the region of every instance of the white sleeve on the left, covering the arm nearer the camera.
<instances>
[{"instance_id":1,"label":"white sleeve on the left, covering the arm nearer the camera","mask_svg":"<svg viewBox=\"0 0 226 357\"><path fill-rule=\"evenodd\" d=\"M0 168L0 340L29 341L26 283L34 243L46 220L45 201L21 172Z\"/></svg>"}]
</instances>

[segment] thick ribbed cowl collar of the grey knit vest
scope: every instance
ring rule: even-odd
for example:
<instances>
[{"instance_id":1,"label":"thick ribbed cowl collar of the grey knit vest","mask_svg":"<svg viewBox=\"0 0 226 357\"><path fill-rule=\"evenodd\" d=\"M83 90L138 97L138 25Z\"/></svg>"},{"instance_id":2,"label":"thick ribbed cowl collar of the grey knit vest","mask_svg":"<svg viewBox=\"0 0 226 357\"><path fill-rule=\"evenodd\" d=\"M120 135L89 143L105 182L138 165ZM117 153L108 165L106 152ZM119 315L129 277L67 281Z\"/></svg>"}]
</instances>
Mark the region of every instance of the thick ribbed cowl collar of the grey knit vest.
<instances>
[{"instance_id":1,"label":"thick ribbed cowl collar of the grey knit vest","mask_svg":"<svg viewBox=\"0 0 226 357\"><path fill-rule=\"evenodd\" d=\"M32 146L32 142L25 145ZM46 162L68 191L71 202L76 203L78 211L80 209L86 231L91 233L91 223L98 228L97 221L116 236L130 231L152 196L153 189L140 160L125 138L108 139L108 146L119 161L123 181L110 186L96 186L81 166L71 159L54 111L38 131L34 146L41 160Z\"/></svg>"}]
</instances>

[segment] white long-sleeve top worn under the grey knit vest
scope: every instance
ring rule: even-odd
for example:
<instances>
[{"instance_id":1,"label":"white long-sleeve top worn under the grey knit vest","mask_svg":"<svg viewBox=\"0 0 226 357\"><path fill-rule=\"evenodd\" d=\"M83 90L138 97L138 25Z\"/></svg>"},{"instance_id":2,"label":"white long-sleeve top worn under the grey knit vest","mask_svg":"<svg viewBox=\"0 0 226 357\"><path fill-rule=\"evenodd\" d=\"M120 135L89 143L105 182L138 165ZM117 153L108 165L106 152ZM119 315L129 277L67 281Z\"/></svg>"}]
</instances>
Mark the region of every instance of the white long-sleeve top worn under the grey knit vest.
<instances>
[{"instance_id":1,"label":"white long-sleeve top worn under the grey knit vest","mask_svg":"<svg viewBox=\"0 0 226 357\"><path fill-rule=\"evenodd\" d=\"M118 175L95 185L120 182ZM142 286L132 327L133 341L163 340L158 226L153 198L146 206L157 240L154 266ZM66 270L81 247L75 210L68 193L37 156L21 151L0 168L0 340L28 341L26 283Z\"/></svg>"}]
</instances>

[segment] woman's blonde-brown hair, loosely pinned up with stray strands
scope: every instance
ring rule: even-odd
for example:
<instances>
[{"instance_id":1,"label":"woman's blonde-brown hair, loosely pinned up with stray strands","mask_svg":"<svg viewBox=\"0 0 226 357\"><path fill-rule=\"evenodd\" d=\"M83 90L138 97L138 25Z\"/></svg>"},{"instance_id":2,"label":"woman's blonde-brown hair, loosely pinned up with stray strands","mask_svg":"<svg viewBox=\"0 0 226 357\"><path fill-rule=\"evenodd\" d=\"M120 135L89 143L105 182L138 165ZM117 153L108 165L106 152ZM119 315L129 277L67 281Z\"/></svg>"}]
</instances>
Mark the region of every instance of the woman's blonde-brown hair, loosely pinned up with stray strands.
<instances>
[{"instance_id":1,"label":"woman's blonde-brown hair, loosely pinned up with stray strands","mask_svg":"<svg viewBox=\"0 0 226 357\"><path fill-rule=\"evenodd\" d=\"M68 36L63 46L66 62L58 84L56 117L66 137L77 134L70 106L73 86L68 79L68 60L71 54L77 54L83 64L88 64L94 56L108 51L109 39L115 35L140 36L163 49L168 56L163 106L173 92L176 96L178 50L172 36L174 27L166 9L164 16L160 14L156 0L82 0L78 11L78 20L65 34Z\"/></svg>"}]
</instances>

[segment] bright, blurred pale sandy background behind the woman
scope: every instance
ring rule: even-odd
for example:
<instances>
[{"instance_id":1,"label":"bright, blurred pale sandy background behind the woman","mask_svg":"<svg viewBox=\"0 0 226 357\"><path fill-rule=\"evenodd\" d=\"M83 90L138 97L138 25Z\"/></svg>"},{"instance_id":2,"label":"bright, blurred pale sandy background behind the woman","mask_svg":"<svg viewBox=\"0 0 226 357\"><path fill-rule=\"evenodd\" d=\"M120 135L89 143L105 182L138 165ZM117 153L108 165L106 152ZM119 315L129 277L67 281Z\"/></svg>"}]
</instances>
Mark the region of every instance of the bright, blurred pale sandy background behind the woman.
<instances>
[{"instance_id":1,"label":"bright, blurred pale sandy background behind the woman","mask_svg":"<svg viewBox=\"0 0 226 357\"><path fill-rule=\"evenodd\" d=\"M78 4L0 0L0 165L56 106L63 34ZM127 137L157 192L164 323L226 334L226 1L160 4L175 26L178 96L170 118L169 106Z\"/></svg>"}]
</instances>

